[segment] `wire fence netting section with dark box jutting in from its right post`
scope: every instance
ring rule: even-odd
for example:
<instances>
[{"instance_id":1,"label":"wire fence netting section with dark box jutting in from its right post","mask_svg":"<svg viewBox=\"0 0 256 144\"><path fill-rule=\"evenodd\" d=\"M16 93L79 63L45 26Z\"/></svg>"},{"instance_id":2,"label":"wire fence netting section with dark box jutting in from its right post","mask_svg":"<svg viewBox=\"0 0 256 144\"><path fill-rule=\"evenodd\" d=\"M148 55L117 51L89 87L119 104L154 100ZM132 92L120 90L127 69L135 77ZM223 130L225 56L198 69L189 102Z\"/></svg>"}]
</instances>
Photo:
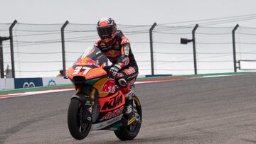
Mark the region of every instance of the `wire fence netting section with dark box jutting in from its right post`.
<instances>
[{"instance_id":1,"label":"wire fence netting section with dark box jutting in from its right post","mask_svg":"<svg viewBox=\"0 0 256 144\"><path fill-rule=\"evenodd\" d=\"M193 27L156 26L153 31L154 74L193 74L192 44L181 45L181 38L191 38Z\"/></svg>"}]
</instances>

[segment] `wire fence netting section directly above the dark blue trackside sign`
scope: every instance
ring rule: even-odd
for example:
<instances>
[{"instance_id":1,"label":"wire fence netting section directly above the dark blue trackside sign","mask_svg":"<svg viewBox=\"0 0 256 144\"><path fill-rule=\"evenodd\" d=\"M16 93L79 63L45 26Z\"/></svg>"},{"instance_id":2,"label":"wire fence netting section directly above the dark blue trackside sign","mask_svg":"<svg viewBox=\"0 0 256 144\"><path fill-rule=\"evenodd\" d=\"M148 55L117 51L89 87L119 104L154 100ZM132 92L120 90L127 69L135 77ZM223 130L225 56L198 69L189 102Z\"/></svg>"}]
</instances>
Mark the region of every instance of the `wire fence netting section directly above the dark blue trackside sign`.
<instances>
[{"instance_id":1,"label":"wire fence netting section directly above the dark blue trackside sign","mask_svg":"<svg viewBox=\"0 0 256 144\"><path fill-rule=\"evenodd\" d=\"M55 77L62 70L60 28L63 24L16 23L13 28L16 77ZM4 57L11 55L4 45ZM7 58L5 65L11 66Z\"/></svg>"}]
</instances>

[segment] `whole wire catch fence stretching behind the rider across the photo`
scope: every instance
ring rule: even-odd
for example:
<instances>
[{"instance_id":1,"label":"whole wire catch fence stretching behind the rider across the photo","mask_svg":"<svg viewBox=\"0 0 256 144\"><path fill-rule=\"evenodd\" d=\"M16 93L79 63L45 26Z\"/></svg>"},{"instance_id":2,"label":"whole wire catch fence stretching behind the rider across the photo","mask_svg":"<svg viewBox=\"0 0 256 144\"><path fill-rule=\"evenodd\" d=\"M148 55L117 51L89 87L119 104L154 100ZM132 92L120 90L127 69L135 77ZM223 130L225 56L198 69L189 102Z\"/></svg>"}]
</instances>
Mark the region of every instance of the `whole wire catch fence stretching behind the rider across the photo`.
<instances>
[{"instance_id":1,"label":"whole wire catch fence stretching behind the rider across the photo","mask_svg":"<svg viewBox=\"0 0 256 144\"><path fill-rule=\"evenodd\" d=\"M153 26L118 25L118 28L131 42L141 75L255 70L256 28L156 23ZM4 63L4 70L9 69L2 72L1 68L1 73L7 76L12 72L9 77L55 77L99 39L95 24L68 21L1 23L0 36L11 36L11 40L2 41L3 56L0 52L0 63ZM181 45L181 38L186 38L183 40L187 40L187 45Z\"/></svg>"}]
</instances>

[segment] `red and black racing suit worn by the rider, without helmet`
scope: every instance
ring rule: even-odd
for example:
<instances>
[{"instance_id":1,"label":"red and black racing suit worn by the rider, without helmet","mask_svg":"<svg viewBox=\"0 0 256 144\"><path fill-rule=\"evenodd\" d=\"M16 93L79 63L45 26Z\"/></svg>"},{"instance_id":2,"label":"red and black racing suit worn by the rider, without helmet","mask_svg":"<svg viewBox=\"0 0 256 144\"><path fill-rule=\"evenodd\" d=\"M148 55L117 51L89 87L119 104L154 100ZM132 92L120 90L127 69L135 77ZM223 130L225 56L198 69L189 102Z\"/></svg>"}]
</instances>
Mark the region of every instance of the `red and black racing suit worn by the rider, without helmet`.
<instances>
[{"instance_id":1,"label":"red and black racing suit worn by the rider, without helmet","mask_svg":"<svg viewBox=\"0 0 256 144\"><path fill-rule=\"evenodd\" d=\"M122 67L117 76L116 84L118 79L124 78L127 80L126 87L120 87L124 94L127 94L134 84L138 75L138 66L131 50L129 40L123 35L122 31L117 31L117 35L110 43L105 43L102 40L97 40L94 45L99 48L109 58L113 65L119 65Z\"/></svg>"}]
</instances>

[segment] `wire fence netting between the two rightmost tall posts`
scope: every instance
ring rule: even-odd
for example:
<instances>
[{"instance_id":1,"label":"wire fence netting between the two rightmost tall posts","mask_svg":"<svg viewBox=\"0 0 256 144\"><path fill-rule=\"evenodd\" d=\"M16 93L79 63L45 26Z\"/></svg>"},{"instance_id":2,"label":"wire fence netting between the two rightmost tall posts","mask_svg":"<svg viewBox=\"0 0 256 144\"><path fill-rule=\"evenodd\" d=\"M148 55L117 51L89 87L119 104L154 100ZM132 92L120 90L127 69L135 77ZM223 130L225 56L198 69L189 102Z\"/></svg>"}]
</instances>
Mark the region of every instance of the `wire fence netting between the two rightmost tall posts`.
<instances>
[{"instance_id":1,"label":"wire fence netting between the two rightmost tall posts","mask_svg":"<svg viewBox=\"0 0 256 144\"><path fill-rule=\"evenodd\" d=\"M198 27L198 73L234 72L232 30L233 27Z\"/></svg>"}]
</instances>

